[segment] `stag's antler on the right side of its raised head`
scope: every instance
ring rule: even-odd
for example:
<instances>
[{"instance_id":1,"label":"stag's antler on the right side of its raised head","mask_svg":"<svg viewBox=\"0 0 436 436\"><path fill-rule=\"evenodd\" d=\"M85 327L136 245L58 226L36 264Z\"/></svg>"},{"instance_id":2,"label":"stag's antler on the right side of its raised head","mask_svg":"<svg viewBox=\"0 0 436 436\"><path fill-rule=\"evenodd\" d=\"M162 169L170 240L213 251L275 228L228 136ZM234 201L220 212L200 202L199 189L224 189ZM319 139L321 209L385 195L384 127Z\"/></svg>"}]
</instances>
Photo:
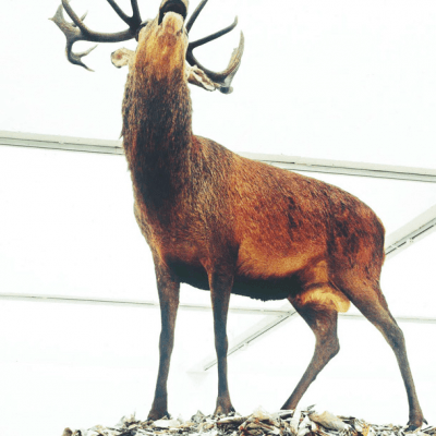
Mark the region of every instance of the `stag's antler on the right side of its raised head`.
<instances>
[{"instance_id":1,"label":"stag's antler on the right side of its raised head","mask_svg":"<svg viewBox=\"0 0 436 436\"><path fill-rule=\"evenodd\" d=\"M195 9L195 11L192 13L189 22L186 23L186 31L190 32L191 27L193 26L195 20L197 19L197 16L199 15L199 13L202 12L203 8L205 7L205 4L207 3L208 0L202 0L202 2L197 5L197 8ZM242 55L244 52L244 35L241 32L241 38L239 41L239 47L237 49L233 50L232 56L230 58L230 62L229 65L227 66L226 70L216 73L211 70L208 70L206 68L204 68L194 57L193 55L193 50L199 46L203 46L207 43L213 41L214 39L219 38L222 35L228 34L229 32L233 31L233 28L237 26L238 24L238 16L234 19L234 22L223 28L222 31L216 32L215 34L211 34L209 36L206 36L204 38L197 39L196 41L190 43L190 45L187 46L187 52L186 52L186 61L190 63L191 66L197 65L199 69L202 69L204 71L204 73L213 81L215 82L217 85L219 85L219 90L223 94L230 94L233 88L230 86L231 81L234 77L234 74L237 74L237 71L241 64L241 59L242 59Z\"/></svg>"}]
</instances>

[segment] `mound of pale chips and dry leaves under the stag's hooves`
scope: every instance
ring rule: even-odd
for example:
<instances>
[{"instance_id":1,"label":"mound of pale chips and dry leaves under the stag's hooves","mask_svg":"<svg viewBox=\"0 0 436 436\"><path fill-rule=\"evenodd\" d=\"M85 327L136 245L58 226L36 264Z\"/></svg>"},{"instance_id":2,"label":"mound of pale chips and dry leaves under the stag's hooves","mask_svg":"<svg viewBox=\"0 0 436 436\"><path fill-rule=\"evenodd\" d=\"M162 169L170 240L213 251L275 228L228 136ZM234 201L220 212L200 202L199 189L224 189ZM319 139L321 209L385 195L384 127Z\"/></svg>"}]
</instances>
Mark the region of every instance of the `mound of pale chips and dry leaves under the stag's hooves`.
<instances>
[{"instance_id":1,"label":"mound of pale chips and dry leaves under the stag's hooves","mask_svg":"<svg viewBox=\"0 0 436 436\"><path fill-rule=\"evenodd\" d=\"M278 413L268 413L259 408L249 416L234 414L226 417L206 416L198 411L189 421L181 417L138 421L132 415L123 416L113 427L65 428L62 436L436 436L434 426L408 432L401 425L368 424L352 416L317 413L313 408Z\"/></svg>"}]
</instances>

